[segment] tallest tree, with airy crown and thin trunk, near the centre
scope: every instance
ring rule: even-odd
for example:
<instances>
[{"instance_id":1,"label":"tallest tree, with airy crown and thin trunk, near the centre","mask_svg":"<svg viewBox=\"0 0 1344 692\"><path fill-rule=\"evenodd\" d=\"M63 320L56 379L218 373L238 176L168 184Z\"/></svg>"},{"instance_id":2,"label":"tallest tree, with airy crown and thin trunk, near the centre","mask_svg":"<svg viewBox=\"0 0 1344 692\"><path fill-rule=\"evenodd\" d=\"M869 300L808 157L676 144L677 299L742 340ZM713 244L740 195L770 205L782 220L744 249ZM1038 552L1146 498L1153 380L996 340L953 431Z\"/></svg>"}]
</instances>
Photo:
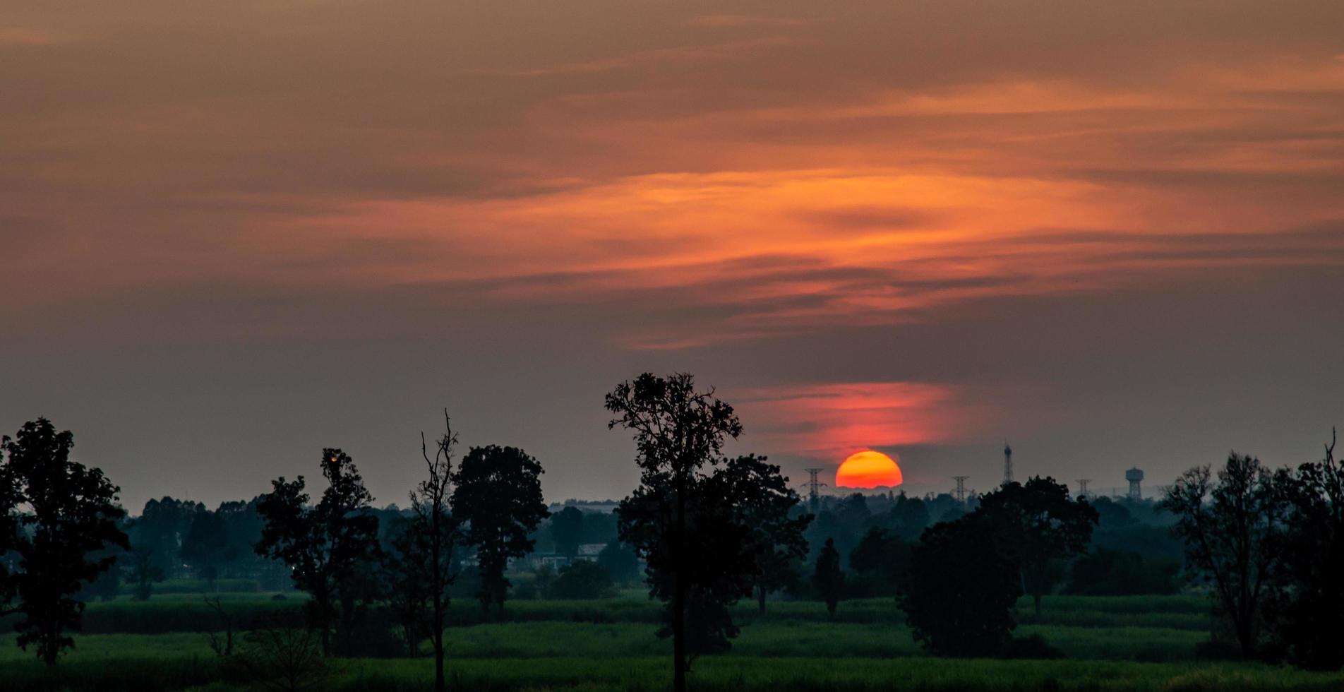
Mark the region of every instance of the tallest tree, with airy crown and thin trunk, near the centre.
<instances>
[{"instance_id":1,"label":"tallest tree, with airy crown and thin trunk, near the centre","mask_svg":"<svg viewBox=\"0 0 1344 692\"><path fill-rule=\"evenodd\" d=\"M634 435L640 488L617 508L621 540L644 558L650 593L668 605L672 636L672 684L685 691L689 665L687 606L696 589L714 587L724 566L702 560L704 544L691 539L691 509L703 489L703 469L723 462L723 443L742 434L732 407L714 391L696 391L688 374L659 378L642 374L606 395L607 423ZM716 516L712 504L700 516ZM718 513L722 516L722 512ZM706 532L707 539L723 539ZM728 532L730 533L730 532Z\"/></svg>"}]
</instances>

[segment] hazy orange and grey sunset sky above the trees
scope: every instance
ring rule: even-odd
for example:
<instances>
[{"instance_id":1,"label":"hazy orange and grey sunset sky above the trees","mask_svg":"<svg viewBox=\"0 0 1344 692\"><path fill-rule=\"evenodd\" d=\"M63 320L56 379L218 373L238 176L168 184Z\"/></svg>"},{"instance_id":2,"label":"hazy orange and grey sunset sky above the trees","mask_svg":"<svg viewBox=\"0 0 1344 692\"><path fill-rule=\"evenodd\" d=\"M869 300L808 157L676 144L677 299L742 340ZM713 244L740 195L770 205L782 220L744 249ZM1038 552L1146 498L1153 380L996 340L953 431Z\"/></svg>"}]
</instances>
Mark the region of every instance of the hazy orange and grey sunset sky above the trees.
<instances>
[{"instance_id":1,"label":"hazy orange and grey sunset sky above the trees","mask_svg":"<svg viewBox=\"0 0 1344 692\"><path fill-rule=\"evenodd\" d=\"M0 429L138 511L442 407L621 497L602 395L907 488L1344 425L1344 3L0 0Z\"/></svg>"}]
</instances>

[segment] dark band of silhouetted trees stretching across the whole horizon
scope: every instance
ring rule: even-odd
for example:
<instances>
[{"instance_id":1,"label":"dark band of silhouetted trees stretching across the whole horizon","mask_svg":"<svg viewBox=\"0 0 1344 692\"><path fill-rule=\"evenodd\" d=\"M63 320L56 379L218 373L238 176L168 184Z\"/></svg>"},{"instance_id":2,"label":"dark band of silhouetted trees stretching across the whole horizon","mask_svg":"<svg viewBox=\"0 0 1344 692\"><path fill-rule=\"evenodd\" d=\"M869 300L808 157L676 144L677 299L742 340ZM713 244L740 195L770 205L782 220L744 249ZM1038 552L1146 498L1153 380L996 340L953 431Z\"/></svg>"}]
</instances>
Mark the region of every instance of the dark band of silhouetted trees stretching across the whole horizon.
<instances>
[{"instance_id":1,"label":"dark band of silhouetted trees stretching across the whole horizon","mask_svg":"<svg viewBox=\"0 0 1344 692\"><path fill-rule=\"evenodd\" d=\"M81 599L121 589L148 598L169 576L292 586L309 597L305 637L258 632L319 656L414 656L427 641L442 688L454 599L491 619L517 595L591 598L642 576L684 689L698 656L731 648L731 606L749 597L761 610L771 594L817 598L832 613L848 597L891 597L933 653L1052 656L1012 636L1023 594L1039 613L1050 594L1172 593L1188 572L1208 580L1242 656L1340 665L1333 445L1296 470L1234 456L1218 482L1195 469L1157 505L1071 497L1036 477L965 504L851 494L812 508L766 458L723 454L742 423L689 375L641 375L605 407L641 472L610 515L551 513L536 458L496 445L458 456L445 413L445 431L422 437L422 481L403 509L375 508L355 460L329 447L320 493L281 477L247 503L163 499L128 519L118 489L70 460L73 435L39 419L3 443L0 606L20 614L19 645L52 665L73 645ZM528 559L539 562L524 580L516 567Z\"/></svg>"}]
</instances>

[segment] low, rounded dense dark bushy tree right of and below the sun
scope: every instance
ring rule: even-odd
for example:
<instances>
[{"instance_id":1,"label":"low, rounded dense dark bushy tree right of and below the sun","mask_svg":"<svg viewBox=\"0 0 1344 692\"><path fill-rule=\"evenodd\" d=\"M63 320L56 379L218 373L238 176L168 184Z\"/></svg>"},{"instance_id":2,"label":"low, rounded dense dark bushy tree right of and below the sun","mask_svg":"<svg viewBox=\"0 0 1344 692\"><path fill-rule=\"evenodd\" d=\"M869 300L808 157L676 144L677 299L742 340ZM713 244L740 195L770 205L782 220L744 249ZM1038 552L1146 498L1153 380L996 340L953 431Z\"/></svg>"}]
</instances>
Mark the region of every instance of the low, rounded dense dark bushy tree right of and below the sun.
<instances>
[{"instance_id":1,"label":"low, rounded dense dark bushy tree right of and below the sun","mask_svg":"<svg viewBox=\"0 0 1344 692\"><path fill-rule=\"evenodd\" d=\"M1012 640L1016 562L984 515L929 527L910 551L896 602L915 641L939 656L995 656Z\"/></svg>"}]
</instances>

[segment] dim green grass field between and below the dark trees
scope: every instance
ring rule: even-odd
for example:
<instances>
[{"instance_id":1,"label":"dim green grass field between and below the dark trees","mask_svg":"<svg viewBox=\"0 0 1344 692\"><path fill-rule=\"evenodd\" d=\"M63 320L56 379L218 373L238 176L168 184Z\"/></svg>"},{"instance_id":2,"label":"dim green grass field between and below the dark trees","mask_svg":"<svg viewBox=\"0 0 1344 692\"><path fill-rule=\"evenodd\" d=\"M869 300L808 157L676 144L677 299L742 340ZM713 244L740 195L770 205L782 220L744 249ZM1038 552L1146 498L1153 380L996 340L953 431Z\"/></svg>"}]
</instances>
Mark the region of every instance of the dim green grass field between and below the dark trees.
<instances>
[{"instance_id":1,"label":"dim green grass field between and below the dark trees","mask_svg":"<svg viewBox=\"0 0 1344 692\"><path fill-rule=\"evenodd\" d=\"M226 594L239 617L289 613L301 597ZM655 636L657 605L637 594L593 602L516 601L507 621L477 623L458 603L448 633L458 689L664 689L669 644ZM727 656L695 664L695 689L1344 689L1344 675L1305 673L1249 662L1200 661L1208 603L1199 595L1052 597L1038 617L1019 605L1019 634L1039 634L1063 660L927 657L891 599L843 602L832 619L813 602L775 602L767 613L737 607L742 634ZM148 602L91 603L55 675L0 637L0 689L246 689L230 680L206 632L214 615L199 594ZM331 689L426 689L427 658L340 660Z\"/></svg>"}]
</instances>

